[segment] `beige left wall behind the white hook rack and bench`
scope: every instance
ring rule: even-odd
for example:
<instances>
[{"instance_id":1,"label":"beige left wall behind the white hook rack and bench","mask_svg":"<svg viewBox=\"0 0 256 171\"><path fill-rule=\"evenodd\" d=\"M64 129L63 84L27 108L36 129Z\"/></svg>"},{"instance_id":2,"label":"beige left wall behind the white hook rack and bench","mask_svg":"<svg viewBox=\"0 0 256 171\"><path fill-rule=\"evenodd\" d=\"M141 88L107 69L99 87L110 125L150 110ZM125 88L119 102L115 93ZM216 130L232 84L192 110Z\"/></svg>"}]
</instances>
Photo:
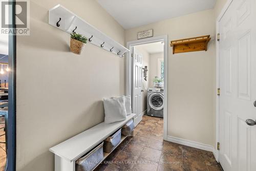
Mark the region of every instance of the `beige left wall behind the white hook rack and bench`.
<instances>
[{"instance_id":1,"label":"beige left wall behind the white hook rack and bench","mask_svg":"<svg viewBox=\"0 0 256 171\"><path fill-rule=\"evenodd\" d=\"M124 30L94 0L30 1L30 36L17 36L17 170L53 171L49 148L103 121L103 97L124 92L124 58L48 25L61 4L124 45Z\"/></svg>"}]
</instances>

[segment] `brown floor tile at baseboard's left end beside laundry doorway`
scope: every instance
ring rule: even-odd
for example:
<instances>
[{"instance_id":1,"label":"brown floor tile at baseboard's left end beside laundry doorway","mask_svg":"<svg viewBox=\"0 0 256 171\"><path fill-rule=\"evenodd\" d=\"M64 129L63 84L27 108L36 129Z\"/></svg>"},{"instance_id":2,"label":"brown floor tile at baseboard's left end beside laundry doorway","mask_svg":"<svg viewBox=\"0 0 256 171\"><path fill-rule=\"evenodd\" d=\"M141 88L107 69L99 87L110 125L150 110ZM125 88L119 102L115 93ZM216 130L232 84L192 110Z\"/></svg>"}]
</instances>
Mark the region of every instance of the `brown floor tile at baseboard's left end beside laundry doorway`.
<instances>
[{"instance_id":1,"label":"brown floor tile at baseboard's left end beside laundry doorway","mask_svg":"<svg viewBox=\"0 0 256 171\"><path fill-rule=\"evenodd\" d=\"M175 155L181 157L182 155L182 145L173 142L164 141L163 152L169 155Z\"/></svg>"}]
</instances>

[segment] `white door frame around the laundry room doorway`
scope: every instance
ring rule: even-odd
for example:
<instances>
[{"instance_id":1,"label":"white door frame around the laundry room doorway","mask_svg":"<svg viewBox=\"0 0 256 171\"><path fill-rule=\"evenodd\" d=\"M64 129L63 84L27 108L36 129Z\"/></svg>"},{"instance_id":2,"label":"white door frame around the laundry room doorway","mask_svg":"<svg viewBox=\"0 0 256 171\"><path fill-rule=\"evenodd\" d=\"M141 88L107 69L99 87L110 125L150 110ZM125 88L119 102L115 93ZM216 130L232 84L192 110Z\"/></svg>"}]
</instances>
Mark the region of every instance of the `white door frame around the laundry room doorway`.
<instances>
[{"instance_id":1,"label":"white door frame around the laundry room doorway","mask_svg":"<svg viewBox=\"0 0 256 171\"><path fill-rule=\"evenodd\" d=\"M168 36L149 37L134 41L127 41L127 49L131 50L132 46L148 44L151 42L164 41L164 108L163 108L163 139L167 140L167 121L168 121ZM131 51L126 53L125 63L125 83L126 95L132 96L132 54Z\"/></svg>"}]
</instances>

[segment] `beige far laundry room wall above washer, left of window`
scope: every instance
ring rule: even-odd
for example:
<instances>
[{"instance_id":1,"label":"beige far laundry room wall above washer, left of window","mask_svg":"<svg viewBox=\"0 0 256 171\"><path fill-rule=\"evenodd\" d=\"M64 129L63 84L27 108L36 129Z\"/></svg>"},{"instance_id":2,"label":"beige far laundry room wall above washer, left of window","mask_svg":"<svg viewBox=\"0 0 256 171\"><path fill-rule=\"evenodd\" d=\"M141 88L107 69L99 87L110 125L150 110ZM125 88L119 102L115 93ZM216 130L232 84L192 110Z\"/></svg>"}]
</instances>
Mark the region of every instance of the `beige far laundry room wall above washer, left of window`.
<instances>
[{"instance_id":1,"label":"beige far laundry room wall above washer, left of window","mask_svg":"<svg viewBox=\"0 0 256 171\"><path fill-rule=\"evenodd\" d=\"M158 59L163 59L163 53L150 54L150 67L148 68L150 70L150 77L148 81L150 81L151 88L154 87L153 78L158 77Z\"/></svg>"}]
</instances>

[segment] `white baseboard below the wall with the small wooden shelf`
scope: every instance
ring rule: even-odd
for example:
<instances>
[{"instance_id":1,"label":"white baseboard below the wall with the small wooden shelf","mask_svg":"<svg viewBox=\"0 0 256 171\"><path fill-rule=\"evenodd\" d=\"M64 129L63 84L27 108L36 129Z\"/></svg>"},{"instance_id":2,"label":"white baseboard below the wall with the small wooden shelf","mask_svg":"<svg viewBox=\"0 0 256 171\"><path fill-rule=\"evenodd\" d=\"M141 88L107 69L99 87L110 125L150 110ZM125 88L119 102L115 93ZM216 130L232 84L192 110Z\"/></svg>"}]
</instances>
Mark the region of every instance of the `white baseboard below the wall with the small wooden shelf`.
<instances>
[{"instance_id":1,"label":"white baseboard below the wall with the small wooden shelf","mask_svg":"<svg viewBox=\"0 0 256 171\"><path fill-rule=\"evenodd\" d=\"M214 147L213 146L203 144L203 143L200 143L200 142L184 140L184 139L176 138L176 137L172 137L172 136L167 136L167 141L175 142L175 143L178 143L178 144L182 144L182 145L186 145L186 146L190 146L190 147L194 147L194 148L203 149L203 150L208 151L208 152L214 152Z\"/></svg>"}]
</instances>

